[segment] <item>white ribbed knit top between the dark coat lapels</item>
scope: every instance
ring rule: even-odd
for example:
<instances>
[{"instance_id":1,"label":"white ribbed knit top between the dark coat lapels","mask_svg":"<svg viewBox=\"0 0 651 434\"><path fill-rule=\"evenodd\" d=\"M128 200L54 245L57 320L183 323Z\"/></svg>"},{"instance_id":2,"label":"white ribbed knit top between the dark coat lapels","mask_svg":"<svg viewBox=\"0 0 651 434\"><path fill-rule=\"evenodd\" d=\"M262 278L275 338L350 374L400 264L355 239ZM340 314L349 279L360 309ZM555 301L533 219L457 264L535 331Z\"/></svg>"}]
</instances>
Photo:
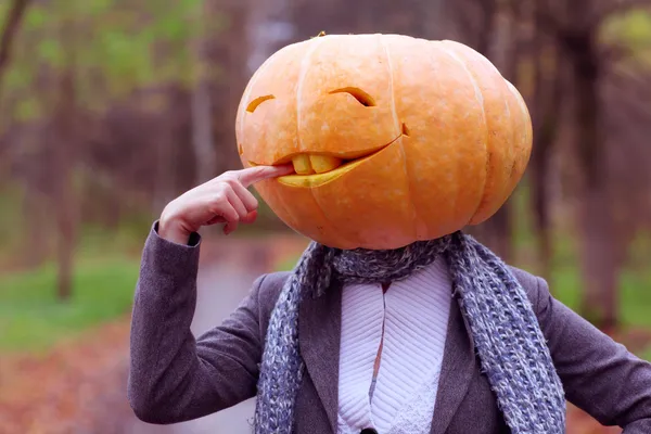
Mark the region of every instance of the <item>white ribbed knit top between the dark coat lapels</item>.
<instances>
[{"instance_id":1,"label":"white ribbed knit top between the dark coat lapels","mask_svg":"<svg viewBox=\"0 0 651 434\"><path fill-rule=\"evenodd\" d=\"M437 259L392 283L345 285L342 296L339 434L429 433L451 303L451 279ZM384 334L383 334L384 329ZM375 357L380 369L371 393Z\"/></svg>"}]
</instances>

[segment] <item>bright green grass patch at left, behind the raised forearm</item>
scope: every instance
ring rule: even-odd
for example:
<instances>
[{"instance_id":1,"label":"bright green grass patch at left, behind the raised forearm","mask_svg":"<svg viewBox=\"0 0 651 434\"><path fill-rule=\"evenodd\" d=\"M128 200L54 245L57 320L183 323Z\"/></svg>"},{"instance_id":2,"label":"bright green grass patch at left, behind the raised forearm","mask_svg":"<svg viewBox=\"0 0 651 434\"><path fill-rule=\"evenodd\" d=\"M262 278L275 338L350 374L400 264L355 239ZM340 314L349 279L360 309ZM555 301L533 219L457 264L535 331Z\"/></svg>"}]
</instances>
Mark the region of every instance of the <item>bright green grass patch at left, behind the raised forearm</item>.
<instances>
[{"instance_id":1,"label":"bright green grass patch at left, behind the raised forearm","mask_svg":"<svg viewBox=\"0 0 651 434\"><path fill-rule=\"evenodd\" d=\"M0 349L44 350L62 337L127 314L138 270L138 260L124 256L82 259L66 303L55 299L53 265L1 277Z\"/></svg>"}]
</instances>

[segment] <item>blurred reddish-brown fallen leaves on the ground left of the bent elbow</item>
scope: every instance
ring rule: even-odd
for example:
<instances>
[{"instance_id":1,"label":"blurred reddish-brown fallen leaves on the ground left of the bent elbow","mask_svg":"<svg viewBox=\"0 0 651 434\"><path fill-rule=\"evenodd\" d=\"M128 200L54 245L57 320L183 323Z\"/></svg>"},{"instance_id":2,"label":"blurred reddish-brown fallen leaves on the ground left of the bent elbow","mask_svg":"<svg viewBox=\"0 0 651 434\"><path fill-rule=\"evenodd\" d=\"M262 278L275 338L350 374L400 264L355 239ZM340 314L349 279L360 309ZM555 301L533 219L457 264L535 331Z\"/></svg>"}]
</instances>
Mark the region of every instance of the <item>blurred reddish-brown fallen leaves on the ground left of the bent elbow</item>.
<instances>
[{"instance_id":1,"label":"blurred reddish-brown fallen leaves on the ground left of the bent elbow","mask_svg":"<svg viewBox=\"0 0 651 434\"><path fill-rule=\"evenodd\" d=\"M0 433L122 433L128 318L42 356L0 356Z\"/></svg>"}]
</instances>

